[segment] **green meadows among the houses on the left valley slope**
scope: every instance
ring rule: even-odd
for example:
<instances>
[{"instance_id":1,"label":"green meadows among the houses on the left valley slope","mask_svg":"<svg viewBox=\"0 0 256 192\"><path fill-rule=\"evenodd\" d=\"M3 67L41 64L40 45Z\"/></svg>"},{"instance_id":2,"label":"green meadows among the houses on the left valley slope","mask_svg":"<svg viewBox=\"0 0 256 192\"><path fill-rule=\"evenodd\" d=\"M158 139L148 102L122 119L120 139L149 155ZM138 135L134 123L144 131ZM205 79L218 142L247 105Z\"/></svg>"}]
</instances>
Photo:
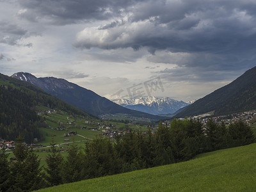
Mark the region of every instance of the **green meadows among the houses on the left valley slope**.
<instances>
[{"instance_id":1,"label":"green meadows among the houses on the left valley slope","mask_svg":"<svg viewBox=\"0 0 256 192\"><path fill-rule=\"evenodd\" d=\"M95 139L97 136L99 136L99 134L102 134L102 132L100 131L92 131L89 129L80 129L80 127L86 126L88 128L95 128L97 129L99 126L97 125L97 123L102 123L100 122L100 120L93 120L93 122L95 122L94 125L89 125L86 122L88 122L89 120L87 120L86 118L83 117L74 117L72 115L68 115L67 113L60 111L60 110L56 110L56 112L54 113L50 113L47 114L45 113L45 111L50 110L50 108L46 108L44 106L38 106L38 108L36 109L36 111L38 113L42 113L42 118L45 118L45 122L47 123L47 125L49 125L50 127L60 127L60 125L62 125L62 127L68 127L67 130L59 130L57 131L56 129L51 129L51 128L44 128L41 127L39 128L41 134L44 136L45 140L43 141L39 141L36 144L41 144L43 146L49 146L52 143L52 138L54 139L54 143L56 143L57 145L60 145L60 150L67 150L68 148L68 143L70 144L72 141L76 142L76 145L78 147L84 148L84 142L86 140L93 140ZM67 122L74 122L74 124L67 124ZM120 122L109 122L109 121L105 121L104 124L113 124L116 127L125 127L124 123L120 123ZM131 129L137 129L137 130L147 130L147 125L131 125L130 127ZM67 135L68 132L76 132L77 135L74 136L64 136ZM64 139L69 139L69 141L65 141ZM67 143L67 144L65 144ZM59 148L59 147L57 147ZM39 149L35 149L36 151L36 155L38 155L38 158L40 159L40 165L41 166L47 166L45 159L47 157L47 155L49 154L49 149L50 148L39 148ZM68 152L61 152L61 155L65 158L68 155ZM10 153L9 158L14 157L13 153Z\"/></svg>"}]
</instances>

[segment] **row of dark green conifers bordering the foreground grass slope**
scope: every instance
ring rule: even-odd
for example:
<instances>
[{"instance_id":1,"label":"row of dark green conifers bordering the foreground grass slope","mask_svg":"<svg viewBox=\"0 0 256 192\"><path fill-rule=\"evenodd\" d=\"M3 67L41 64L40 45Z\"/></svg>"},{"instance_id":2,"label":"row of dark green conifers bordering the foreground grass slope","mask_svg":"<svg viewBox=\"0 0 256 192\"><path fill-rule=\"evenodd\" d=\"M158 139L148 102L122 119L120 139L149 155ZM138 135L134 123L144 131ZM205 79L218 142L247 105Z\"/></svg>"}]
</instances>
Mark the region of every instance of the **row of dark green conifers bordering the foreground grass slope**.
<instances>
[{"instance_id":1,"label":"row of dark green conifers bordering the foreground grass slope","mask_svg":"<svg viewBox=\"0 0 256 192\"><path fill-rule=\"evenodd\" d=\"M73 143L63 158L52 142L47 166L40 167L35 152L17 140L13 151L16 160L8 161L1 153L0 189L33 191L68 182L130 172L164 164L187 161L197 154L255 142L252 129L243 121L228 127L211 118L206 126L199 120L173 120L170 126L159 124L152 134L129 131L124 136L96 138L79 148Z\"/></svg>"}]
</instances>

